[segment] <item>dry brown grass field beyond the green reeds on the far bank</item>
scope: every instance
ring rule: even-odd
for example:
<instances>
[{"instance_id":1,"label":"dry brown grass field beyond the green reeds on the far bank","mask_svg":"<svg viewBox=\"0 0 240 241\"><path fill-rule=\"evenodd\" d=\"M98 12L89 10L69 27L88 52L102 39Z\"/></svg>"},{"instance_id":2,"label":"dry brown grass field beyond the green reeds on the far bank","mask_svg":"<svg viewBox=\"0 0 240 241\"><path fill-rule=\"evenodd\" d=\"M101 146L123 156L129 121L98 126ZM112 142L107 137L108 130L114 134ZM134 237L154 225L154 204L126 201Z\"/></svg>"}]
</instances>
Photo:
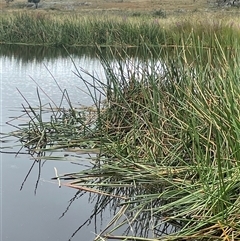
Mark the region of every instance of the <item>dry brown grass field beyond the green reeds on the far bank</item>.
<instances>
[{"instance_id":1,"label":"dry brown grass field beyond the green reeds on the far bank","mask_svg":"<svg viewBox=\"0 0 240 241\"><path fill-rule=\"evenodd\" d=\"M212 0L213 1L213 0ZM31 9L31 4L25 0L14 0L6 4L1 1L2 11L13 11L19 9ZM156 10L188 12L194 10L204 10L210 4L206 0L41 0L39 11L57 10L74 12L92 11L114 11L114 12L152 12ZM32 8L34 8L32 6Z\"/></svg>"}]
</instances>

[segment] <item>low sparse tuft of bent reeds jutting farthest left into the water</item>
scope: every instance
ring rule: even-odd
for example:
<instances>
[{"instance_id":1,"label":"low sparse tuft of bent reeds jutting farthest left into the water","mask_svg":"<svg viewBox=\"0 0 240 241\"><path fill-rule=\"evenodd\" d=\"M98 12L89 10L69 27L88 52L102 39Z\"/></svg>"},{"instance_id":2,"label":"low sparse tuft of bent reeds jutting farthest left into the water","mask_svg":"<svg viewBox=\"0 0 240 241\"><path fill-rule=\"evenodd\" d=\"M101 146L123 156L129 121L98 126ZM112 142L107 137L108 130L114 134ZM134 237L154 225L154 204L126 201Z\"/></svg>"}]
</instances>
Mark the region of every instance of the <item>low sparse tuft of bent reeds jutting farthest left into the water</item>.
<instances>
[{"instance_id":1,"label":"low sparse tuft of bent reeds jutting farthest left into the water","mask_svg":"<svg viewBox=\"0 0 240 241\"><path fill-rule=\"evenodd\" d=\"M42 156L40 154L44 151L70 150L76 147L87 153L99 153L100 139L96 129L98 110L91 106L73 107L67 90L61 89L57 82L56 86L62 92L60 103L52 101L51 96L38 86L39 105L35 108L19 91L25 100L25 105L22 105L24 114L8 122L17 127L9 135L18 138L31 155ZM42 103L40 93L48 97L49 103ZM21 123L19 127L14 124L24 117L28 118L28 123Z\"/></svg>"}]
</instances>

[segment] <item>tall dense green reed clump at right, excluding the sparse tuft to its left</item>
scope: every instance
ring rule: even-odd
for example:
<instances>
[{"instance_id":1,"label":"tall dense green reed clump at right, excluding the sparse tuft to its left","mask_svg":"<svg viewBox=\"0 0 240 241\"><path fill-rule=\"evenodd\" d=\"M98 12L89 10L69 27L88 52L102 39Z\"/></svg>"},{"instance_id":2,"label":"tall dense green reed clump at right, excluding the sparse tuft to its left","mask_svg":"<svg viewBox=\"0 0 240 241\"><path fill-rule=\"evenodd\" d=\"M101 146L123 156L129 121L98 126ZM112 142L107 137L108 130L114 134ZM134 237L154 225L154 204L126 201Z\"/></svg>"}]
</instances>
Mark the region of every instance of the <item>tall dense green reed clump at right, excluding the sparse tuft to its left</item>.
<instances>
[{"instance_id":1,"label":"tall dense green reed clump at right, excluding the sparse tuft to its left","mask_svg":"<svg viewBox=\"0 0 240 241\"><path fill-rule=\"evenodd\" d=\"M114 220L126 219L118 225L152 225L157 240L164 225L179 227L164 240L237 239L239 56L219 44L208 49L209 64L199 58L203 49L189 52L192 63L185 50L178 48L174 60L166 52L161 64L103 61L107 106L99 128L109 140L105 155L67 185L120 196L123 209ZM111 231L102 237L149 236L140 230L134 237Z\"/></svg>"}]
</instances>

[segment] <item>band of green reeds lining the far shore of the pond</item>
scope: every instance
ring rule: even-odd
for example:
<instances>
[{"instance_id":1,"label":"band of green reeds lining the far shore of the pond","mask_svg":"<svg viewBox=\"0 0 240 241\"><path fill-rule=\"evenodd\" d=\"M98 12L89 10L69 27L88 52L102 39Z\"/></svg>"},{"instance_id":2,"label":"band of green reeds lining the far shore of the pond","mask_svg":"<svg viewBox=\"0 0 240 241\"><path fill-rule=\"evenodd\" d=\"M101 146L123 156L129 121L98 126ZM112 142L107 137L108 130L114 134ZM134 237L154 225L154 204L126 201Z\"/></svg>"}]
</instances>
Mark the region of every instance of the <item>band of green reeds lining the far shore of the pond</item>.
<instances>
[{"instance_id":1,"label":"band of green reeds lining the far shore of the pond","mask_svg":"<svg viewBox=\"0 0 240 241\"><path fill-rule=\"evenodd\" d=\"M1 44L46 46L157 46L231 47L240 41L239 17L204 13L189 17L52 15L45 12L5 13L0 16Z\"/></svg>"}]
</instances>

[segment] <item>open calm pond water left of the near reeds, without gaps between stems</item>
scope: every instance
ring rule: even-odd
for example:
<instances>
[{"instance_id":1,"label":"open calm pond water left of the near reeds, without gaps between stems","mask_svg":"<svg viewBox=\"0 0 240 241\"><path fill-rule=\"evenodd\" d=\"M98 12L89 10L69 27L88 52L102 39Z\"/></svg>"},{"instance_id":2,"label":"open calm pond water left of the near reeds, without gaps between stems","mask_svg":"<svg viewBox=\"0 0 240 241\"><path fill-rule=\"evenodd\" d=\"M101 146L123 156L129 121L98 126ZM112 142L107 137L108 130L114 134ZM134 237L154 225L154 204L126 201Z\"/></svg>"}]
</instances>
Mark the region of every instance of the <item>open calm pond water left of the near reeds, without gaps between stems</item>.
<instances>
[{"instance_id":1,"label":"open calm pond water left of the near reeds, without gaps between stems","mask_svg":"<svg viewBox=\"0 0 240 241\"><path fill-rule=\"evenodd\" d=\"M56 80L62 89L68 90L74 104L92 104L89 96L79 90L87 91L83 82L72 73L76 69L69 57L62 57L59 54L56 58L50 58L46 50L40 59L37 58L37 55L33 56L34 54L29 53L28 56L23 55L23 51L20 50L19 54L14 50L10 54L4 53L0 56L1 132L6 133L13 130L13 127L5 123L11 120L9 117L18 116L21 113L22 103L26 105L21 94L32 106L38 105L37 84L45 91L45 93L40 91L43 103L50 102L49 97L56 103L60 102L61 91L55 83ZM104 77L97 58L84 55L75 56L74 62L76 66L82 67L88 72L97 72L99 76ZM85 75L84 78L89 77ZM2 147L17 144L2 143ZM6 151L14 152L16 150L18 147ZM80 161L88 164L84 158ZM66 241L89 218L93 205L89 204L88 195L85 195L75 201L66 215L59 219L76 190L67 187L58 188L57 183L51 178L55 175L54 167L57 168L59 174L78 171L84 167L73 165L68 161L45 162L41 167L41 177L35 195L34 189L39 174L38 165L33 167L20 191L21 184L32 163L33 160L28 155L20 154L16 157L14 154L1 154L0 240ZM93 240L94 237L94 225L91 224L81 229L72 240L87 241Z\"/></svg>"}]
</instances>

